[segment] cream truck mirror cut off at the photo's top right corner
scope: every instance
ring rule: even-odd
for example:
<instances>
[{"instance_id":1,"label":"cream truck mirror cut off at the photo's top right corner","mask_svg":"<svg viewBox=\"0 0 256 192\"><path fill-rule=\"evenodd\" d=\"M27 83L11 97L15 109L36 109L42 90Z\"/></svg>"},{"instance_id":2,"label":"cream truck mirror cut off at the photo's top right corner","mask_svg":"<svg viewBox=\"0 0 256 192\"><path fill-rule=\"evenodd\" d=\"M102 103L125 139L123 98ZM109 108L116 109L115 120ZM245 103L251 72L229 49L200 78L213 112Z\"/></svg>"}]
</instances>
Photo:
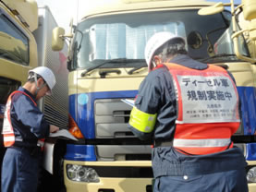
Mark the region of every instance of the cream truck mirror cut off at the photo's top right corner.
<instances>
[{"instance_id":1,"label":"cream truck mirror cut off at the photo's top right corner","mask_svg":"<svg viewBox=\"0 0 256 192\"><path fill-rule=\"evenodd\" d=\"M242 0L243 14L246 20L256 18L256 1L255 0Z\"/></svg>"}]
</instances>

